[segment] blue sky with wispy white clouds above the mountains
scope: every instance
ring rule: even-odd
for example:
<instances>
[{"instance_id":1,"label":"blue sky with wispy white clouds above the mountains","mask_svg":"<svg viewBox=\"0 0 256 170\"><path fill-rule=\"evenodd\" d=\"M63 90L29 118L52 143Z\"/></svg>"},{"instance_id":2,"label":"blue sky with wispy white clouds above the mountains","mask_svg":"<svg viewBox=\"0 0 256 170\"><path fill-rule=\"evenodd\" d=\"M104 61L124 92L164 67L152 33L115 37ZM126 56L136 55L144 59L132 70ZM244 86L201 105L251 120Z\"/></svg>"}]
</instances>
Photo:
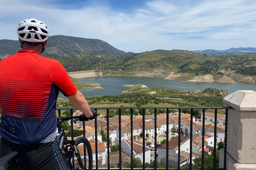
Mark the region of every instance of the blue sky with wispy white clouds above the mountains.
<instances>
[{"instance_id":1,"label":"blue sky with wispy white clouds above the mountains","mask_svg":"<svg viewBox=\"0 0 256 170\"><path fill-rule=\"evenodd\" d=\"M125 52L256 47L255 0L0 0L0 39L28 18Z\"/></svg>"}]
</instances>

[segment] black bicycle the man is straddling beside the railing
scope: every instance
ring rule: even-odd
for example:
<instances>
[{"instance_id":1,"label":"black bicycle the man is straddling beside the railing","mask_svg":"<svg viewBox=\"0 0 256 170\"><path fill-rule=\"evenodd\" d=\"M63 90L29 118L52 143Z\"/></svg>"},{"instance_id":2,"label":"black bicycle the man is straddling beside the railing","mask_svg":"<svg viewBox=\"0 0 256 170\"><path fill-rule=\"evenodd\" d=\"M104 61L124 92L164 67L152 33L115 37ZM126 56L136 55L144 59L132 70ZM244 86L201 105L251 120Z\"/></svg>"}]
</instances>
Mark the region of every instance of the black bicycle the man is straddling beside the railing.
<instances>
[{"instance_id":1,"label":"black bicycle the man is straddling beside the railing","mask_svg":"<svg viewBox=\"0 0 256 170\"><path fill-rule=\"evenodd\" d=\"M84 114L79 116L70 116L70 117L58 117L57 118L57 143L62 150L63 155L67 159L70 170L74 169L89 169L92 170L92 148L90 142L84 138L79 137L76 140L68 140L65 130L61 126L61 123L64 121L69 121L71 119L78 119L79 121L89 121L97 117L97 111L92 111L93 116L87 118ZM18 155L17 151L13 151L10 154L0 158L0 170L6 170L15 162L15 156Z\"/></svg>"}]
</instances>

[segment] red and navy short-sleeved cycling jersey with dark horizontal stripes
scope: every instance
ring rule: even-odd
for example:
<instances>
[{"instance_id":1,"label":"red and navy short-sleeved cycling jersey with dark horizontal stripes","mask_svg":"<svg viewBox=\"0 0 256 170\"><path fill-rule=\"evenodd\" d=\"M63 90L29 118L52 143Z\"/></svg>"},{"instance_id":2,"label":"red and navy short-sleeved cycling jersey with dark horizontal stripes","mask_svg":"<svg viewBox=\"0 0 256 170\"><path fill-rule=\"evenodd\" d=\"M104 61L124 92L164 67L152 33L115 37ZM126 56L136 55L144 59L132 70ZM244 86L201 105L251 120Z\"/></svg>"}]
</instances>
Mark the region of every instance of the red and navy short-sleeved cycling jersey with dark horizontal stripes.
<instances>
[{"instance_id":1,"label":"red and navy short-sleeved cycling jersey with dark horizontal stripes","mask_svg":"<svg viewBox=\"0 0 256 170\"><path fill-rule=\"evenodd\" d=\"M56 130L59 90L72 96L77 88L64 67L34 50L19 50L0 62L0 136L20 145L37 143ZM39 117L39 121L28 121Z\"/></svg>"}]
</instances>

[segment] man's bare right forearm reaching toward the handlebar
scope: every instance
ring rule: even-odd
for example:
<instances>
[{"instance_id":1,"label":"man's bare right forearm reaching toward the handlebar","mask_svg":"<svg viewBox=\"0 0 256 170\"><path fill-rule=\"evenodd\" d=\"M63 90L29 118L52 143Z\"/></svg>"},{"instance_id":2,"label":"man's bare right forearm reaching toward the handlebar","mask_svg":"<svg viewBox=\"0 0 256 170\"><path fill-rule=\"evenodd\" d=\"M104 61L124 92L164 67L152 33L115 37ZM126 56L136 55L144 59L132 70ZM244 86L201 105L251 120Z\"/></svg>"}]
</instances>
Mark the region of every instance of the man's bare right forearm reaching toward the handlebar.
<instances>
[{"instance_id":1,"label":"man's bare right forearm reaching toward the handlebar","mask_svg":"<svg viewBox=\"0 0 256 170\"><path fill-rule=\"evenodd\" d=\"M67 97L79 111L83 112L86 117L91 117L92 112L82 92L78 91L73 96Z\"/></svg>"}]
</instances>

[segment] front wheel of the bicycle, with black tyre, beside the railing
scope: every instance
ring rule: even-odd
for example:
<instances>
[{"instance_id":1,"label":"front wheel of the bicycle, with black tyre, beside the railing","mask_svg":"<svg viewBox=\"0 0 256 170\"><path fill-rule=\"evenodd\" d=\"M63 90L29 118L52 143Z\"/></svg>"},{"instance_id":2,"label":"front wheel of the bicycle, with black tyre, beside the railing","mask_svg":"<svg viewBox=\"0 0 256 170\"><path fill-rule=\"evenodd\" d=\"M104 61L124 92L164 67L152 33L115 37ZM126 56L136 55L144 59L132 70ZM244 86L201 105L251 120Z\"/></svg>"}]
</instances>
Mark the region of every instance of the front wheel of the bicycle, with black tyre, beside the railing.
<instances>
[{"instance_id":1,"label":"front wheel of the bicycle, with black tyre, beside the railing","mask_svg":"<svg viewBox=\"0 0 256 170\"><path fill-rule=\"evenodd\" d=\"M80 158L84 165L84 169L92 170L92 148L90 142L86 138L80 137L75 140L75 143L77 149L79 150ZM74 160L71 160L71 165L73 165L73 169L81 169L78 159L79 157L76 157L76 155L74 155Z\"/></svg>"}]
</instances>

